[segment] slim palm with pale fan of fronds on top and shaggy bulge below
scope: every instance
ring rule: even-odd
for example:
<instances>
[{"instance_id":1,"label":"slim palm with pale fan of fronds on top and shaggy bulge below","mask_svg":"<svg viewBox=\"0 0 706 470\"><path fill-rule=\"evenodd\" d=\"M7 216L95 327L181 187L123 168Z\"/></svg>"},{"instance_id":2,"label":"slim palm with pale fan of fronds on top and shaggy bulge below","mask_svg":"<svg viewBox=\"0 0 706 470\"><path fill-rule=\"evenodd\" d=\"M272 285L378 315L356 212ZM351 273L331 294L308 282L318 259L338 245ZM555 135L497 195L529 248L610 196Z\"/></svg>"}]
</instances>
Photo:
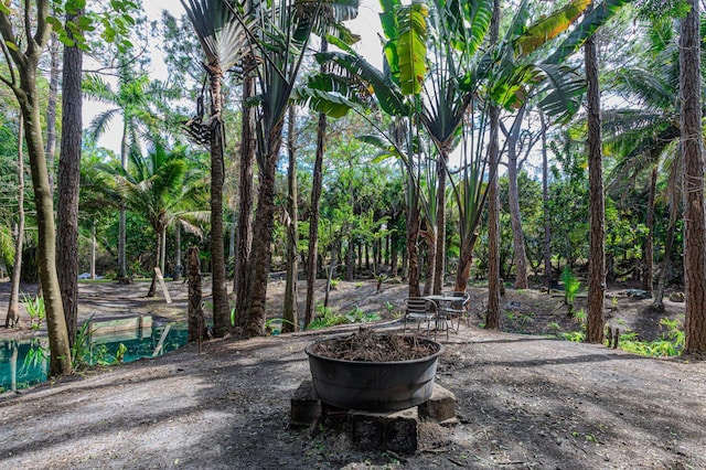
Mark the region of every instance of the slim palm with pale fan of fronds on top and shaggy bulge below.
<instances>
[{"instance_id":1,"label":"slim palm with pale fan of fronds on top and shaggy bulge below","mask_svg":"<svg viewBox=\"0 0 706 470\"><path fill-rule=\"evenodd\" d=\"M180 0L191 20L205 54L203 63L208 75L210 116L192 120L203 142L211 149L211 266L214 334L224 337L231 329L228 292L223 246L223 183L225 180L222 82L226 71L249 53L246 18L236 13L226 0Z\"/></svg>"}]
</instances>

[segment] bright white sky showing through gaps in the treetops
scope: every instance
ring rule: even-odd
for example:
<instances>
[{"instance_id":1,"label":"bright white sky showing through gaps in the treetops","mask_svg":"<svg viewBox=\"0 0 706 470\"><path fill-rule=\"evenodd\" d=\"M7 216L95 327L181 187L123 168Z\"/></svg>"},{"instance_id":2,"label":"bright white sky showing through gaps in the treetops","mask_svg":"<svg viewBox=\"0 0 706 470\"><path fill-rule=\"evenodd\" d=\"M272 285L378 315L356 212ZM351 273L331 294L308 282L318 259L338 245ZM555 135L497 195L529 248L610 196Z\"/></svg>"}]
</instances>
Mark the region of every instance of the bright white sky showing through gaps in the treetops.
<instances>
[{"instance_id":1,"label":"bright white sky showing through gaps in the treetops","mask_svg":"<svg viewBox=\"0 0 706 470\"><path fill-rule=\"evenodd\" d=\"M150 20L159 20L162 10L168 10L172 15L179 18L184 14L184 9L179 0L145 0L145 11ZM346 23L346 25L356 34L361 35L361 41L355 45L355 50L364 55L372 64L382 67L382 47L378 39L381 33L379 26L379 2L378 0L361 0L359 17ZM159 40L154 40L159 41ZM156 78L165 78L165 66L161 58L160 52L153 49L151 52L152 68ZM106 107L96 103L86 100L84 103L84 126L88 126L90 120ZM110 129L98 143L116 153L120 149L121 124L119 120L111 122Z\"/></svg>"}]
</instances>

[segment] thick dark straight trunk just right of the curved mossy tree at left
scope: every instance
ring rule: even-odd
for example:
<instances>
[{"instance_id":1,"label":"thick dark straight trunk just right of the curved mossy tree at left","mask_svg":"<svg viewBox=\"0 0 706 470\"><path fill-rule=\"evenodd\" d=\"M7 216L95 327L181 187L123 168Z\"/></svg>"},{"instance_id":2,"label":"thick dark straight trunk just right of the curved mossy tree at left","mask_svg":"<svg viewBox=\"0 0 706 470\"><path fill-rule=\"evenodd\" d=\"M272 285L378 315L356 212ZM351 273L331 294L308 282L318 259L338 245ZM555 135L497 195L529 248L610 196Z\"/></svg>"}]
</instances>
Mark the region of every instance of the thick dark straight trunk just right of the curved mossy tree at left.
<instances>
[{"instance_id":1,"label":"thick dark straight trunk just right of the curved mossy tree at left","mask_svg":"<svg viewBox=\"0 0 706 470\"><path fill-rule=\"evenodd\" d=\"M78 22L83 11L66 14ZM71 33L69 33L71 36ZM62 89L62 142L58 158L57 275L68 342L74 344L78 323L78 190L81 184L83 52L64 46Z\"/></svg>"}]
</instances>

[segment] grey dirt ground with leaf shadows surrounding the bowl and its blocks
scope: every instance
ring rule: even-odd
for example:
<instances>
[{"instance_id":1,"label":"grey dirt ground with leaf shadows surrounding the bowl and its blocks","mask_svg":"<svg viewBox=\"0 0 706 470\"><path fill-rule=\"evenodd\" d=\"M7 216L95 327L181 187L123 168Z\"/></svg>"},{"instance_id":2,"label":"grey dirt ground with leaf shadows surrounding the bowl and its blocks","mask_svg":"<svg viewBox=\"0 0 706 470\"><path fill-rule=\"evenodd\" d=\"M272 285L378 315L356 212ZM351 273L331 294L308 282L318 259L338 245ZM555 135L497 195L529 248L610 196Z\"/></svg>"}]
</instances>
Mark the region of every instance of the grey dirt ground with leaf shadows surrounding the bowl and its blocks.
<instances>
[{"instance_id":1,"label":"grey dirt ground with leaf shadows surrounding the bowl and its blocks","mask_svg":"<svg viewBox=\"0 0 706 470\"><path fill-rule=\"evenodd\" d=\"M706 468L706 364L461 327L438 382L460 424L415 456L288 430L295 334L208 343L0 397L0 468Z\"/></svg>"}]
</instances>

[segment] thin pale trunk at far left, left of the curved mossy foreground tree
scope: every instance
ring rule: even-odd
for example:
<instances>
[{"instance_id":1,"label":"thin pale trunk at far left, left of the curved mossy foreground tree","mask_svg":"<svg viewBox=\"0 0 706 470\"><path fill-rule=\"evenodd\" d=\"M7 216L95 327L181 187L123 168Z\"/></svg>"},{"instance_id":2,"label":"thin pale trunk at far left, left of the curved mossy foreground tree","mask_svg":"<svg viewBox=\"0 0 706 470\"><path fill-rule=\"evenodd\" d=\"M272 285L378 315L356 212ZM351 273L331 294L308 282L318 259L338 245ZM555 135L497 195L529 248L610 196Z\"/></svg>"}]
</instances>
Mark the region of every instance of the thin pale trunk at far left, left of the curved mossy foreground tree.
<instances>
[{"instance_id":1,"label":"thin pale trunk at far left, left of the curved mossy foreground tree","mask_svg":"<svg viewBox=\"0 0 706 470\"><path fill-rule=\"evenodd\" d=\"M20 324L20 279L22 276L22 248L24 246L24 152L22 140L24 139L24 125L22 115L18 121L18 223L14 236L14 263L12 264L12 287L8 300L8 316L4 319L4 328Z\"/></svg>"}]
</instances>

